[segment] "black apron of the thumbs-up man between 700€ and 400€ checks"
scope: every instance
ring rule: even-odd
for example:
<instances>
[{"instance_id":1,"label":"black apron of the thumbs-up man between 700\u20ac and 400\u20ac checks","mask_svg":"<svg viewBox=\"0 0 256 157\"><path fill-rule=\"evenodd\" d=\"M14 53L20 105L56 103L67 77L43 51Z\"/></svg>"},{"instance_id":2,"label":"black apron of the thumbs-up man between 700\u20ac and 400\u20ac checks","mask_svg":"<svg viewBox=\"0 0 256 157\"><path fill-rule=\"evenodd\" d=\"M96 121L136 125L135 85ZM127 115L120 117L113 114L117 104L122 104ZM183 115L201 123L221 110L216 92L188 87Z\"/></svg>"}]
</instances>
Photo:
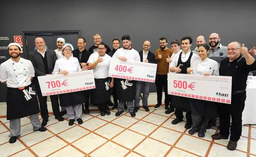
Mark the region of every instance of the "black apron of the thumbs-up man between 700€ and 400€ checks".
<instances>
[{"instance_id":1,"label":"black apron of the thumbs-up man between 700\u20ac and 400\u20ac checks","mask_svg":"<svg viewBox=\"0 0 256 157\"><path fill-rule=\"evenodd\" d=\"M109 77L94 79L96 88L91 89L91 104L102 104L110 101Z\"/></svg>"}]
</instances>

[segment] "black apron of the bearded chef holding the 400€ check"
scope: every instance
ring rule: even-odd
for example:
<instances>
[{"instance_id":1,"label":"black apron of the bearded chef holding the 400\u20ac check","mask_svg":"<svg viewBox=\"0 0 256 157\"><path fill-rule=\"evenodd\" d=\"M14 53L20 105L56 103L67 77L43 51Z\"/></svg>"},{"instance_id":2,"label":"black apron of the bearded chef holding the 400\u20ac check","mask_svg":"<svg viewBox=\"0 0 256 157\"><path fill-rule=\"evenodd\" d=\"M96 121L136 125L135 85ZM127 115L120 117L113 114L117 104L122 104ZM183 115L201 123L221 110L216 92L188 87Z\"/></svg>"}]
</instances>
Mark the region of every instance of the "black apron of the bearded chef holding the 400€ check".
<instances>
[{"instance_id":1,"label":"black apron of the bearded chef holding the 400\u20ac check","mask_svg":"<svg viewBox=\"0 0 256 157\"><path fill-rule=\"evenodd\" d=\"M115 86L117 88L117 99L120 102L130 102L135 98L135 81L115 78Z\"/></svg>"}]
</instances>

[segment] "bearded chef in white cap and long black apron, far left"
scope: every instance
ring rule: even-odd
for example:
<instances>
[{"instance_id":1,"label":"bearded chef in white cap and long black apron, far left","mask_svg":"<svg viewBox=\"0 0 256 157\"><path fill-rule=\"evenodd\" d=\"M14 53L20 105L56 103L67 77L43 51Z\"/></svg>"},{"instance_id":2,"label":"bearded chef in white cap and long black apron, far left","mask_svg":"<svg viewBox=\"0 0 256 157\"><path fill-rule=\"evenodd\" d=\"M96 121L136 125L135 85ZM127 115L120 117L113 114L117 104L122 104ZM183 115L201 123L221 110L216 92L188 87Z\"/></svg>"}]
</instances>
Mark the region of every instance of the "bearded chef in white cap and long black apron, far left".
<instances>
[{"instance_id":1,"label":"bearded chef in white cap and long black apron, far left","mask_svg":"<svg viewBox=\"0 0 256 157\"><path fill-rule=\"evenodd\" d=\"M30 60L20 57L21 46L10 43L11 58L0 65L0 81L7 85L7 120L10 120L9 143L16 142L21 135L21 118L30 116L34 131L46 131L41 126L37 113L40 112L35 89L31 84L34 67Z\"/></svg>"}]
</instances>

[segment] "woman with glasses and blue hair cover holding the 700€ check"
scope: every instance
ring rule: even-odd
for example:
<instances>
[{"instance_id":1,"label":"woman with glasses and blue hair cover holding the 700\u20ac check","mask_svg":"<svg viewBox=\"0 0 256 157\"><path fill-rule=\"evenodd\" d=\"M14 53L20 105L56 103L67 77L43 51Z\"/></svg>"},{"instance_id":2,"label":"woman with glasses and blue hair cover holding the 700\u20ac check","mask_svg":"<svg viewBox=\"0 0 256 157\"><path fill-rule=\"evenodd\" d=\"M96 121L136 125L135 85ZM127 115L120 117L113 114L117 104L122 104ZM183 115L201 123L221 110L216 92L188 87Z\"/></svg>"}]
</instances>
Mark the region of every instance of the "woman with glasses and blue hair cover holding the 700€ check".
<instances>
[{"instance_id":1,"label":"woman with glasses and blue hair cover holding the 700\u20ac check","mask_svg":"<svg viewBox=\"0 0 256 157\"><path fill-rule=\"evenodd\" d=\"M89 69L88 66L85 66L81 69L78 59L71 56L71 46L64 45L62 47L62 53L64 57L56 60L53 74L69 75L70 73L76 71ZM81 116L82 103L85 102L85 95L82 91L60 94L59 101L62 106L66 107L70 126L74 124L75 119L78 121L78 124L83 123Z\"/></svg>"}]
</instances>

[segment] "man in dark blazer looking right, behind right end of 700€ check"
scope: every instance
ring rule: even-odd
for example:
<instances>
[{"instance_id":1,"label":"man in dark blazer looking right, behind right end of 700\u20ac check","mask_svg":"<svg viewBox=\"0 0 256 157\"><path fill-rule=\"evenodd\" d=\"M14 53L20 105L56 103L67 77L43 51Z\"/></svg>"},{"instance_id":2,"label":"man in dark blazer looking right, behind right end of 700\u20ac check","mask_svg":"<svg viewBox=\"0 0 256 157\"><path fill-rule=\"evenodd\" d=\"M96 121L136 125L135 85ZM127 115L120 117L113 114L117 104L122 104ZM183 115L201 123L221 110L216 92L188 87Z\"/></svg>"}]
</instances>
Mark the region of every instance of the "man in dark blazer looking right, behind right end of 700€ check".
<instances>
[{"instance_id":1,"label":"man in dark blazer looking right, behind right end of 700\u20ac check","mask_svg":"<svg viewBox=\"0 0 256 157\"><path fill-rule=\"evenodd\" d=\"M81 68L83 66L88 66L87 61L91 55L89 51L85 49L86 40L85 38L78 38L77 46L78 48L73 50L73 57L76 57L81 65ZM85 106L82 106L83 113L89 114L89 90L85 90Z\"/></svg>"}]
</instances>

